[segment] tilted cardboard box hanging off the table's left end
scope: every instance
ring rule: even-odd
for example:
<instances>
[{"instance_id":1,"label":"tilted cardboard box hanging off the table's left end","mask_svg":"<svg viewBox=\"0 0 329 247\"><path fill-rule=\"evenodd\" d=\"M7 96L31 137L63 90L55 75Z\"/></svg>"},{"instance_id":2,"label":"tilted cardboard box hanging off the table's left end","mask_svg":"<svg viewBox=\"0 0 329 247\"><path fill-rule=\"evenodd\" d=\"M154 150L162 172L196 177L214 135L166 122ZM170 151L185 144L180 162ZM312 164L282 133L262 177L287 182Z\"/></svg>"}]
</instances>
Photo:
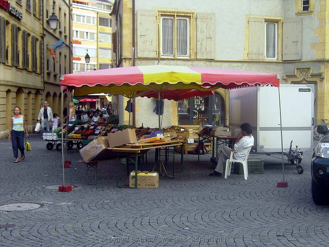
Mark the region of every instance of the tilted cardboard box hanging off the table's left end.
<instances>
[{"instance_id":1,"label":"tilted cardboard box hanging off the table's left end","mask_svg":"<svg viewBox=\"0 0 329 247\"><path fill-rule=\"evenodd\" d=\"M109 147L107 139L107 137L101 136L80 149L80 155L84 161L88 163L93 160L99 160L101 154Z\"/></svg>"}]
</instances>

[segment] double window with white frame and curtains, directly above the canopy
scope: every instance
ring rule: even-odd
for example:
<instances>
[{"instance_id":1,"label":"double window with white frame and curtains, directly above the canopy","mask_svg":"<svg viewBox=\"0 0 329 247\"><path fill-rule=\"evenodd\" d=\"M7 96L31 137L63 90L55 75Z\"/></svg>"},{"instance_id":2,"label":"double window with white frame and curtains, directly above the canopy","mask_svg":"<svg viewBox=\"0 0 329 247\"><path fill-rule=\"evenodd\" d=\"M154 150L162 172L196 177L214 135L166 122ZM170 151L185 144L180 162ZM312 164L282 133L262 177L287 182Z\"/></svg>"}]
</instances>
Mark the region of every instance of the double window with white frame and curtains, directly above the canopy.
<instances>
[{"instance_id":1,"label":"double window with white frame and curtains, directly above the canopy","mask_svg":"<svg viewBox=\"0 0 329 247\"><path fill-rule=\"evenodd\" d=\"M161 16L161 56L189 57L189 22L183 16Z\"/></svg>"}]
</instances>

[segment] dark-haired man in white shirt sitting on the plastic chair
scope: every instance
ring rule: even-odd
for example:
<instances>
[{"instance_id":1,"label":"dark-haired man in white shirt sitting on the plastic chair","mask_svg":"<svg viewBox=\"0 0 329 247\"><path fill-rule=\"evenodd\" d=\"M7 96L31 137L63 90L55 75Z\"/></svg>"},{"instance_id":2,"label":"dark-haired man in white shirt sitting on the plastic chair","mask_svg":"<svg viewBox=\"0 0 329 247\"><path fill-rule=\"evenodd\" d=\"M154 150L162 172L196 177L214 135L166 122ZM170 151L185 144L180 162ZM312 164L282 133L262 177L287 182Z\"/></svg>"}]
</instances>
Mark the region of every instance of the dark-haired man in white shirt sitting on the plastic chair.
<instances>
[{"instance_id":1,"label":"dark-haired man in white shirt sitting on the plastic chair","mask_svg":"<svg viewBox=\"0 0 329 247\"><path fill-rule=\"evenodd\" d=\"M215 171L209 176L221 177L223 173L223 164L226 162L228 158L230 158L231 151L237 151L233 154L233 158L235 159L244 159L245 155L247 154L248 150L241 150L247 147L251 147L254 145L254 137L252 135L252 126L250 123L245 122L241 126L241 132L237 136L234 147L231 149L227 146L223 146L219 151L219 154L216 158L217 166ZM238 150L241 150L240 152Z\"/></svg>"}]
</instances>

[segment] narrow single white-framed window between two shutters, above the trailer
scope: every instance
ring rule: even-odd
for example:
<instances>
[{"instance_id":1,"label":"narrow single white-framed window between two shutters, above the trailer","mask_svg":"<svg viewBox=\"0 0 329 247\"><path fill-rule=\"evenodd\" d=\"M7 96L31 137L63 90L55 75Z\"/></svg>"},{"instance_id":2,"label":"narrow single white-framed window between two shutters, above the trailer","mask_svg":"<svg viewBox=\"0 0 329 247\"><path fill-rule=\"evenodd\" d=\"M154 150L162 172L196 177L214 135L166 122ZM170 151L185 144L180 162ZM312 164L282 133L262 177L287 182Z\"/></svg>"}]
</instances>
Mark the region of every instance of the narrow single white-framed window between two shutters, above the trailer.
<instances>
[{"instance_id":1,"label":"narrow single white-framed window between two shutters, above the trailer","mask_svg":"<svg viewBox=\"0 0 329 247\"><path fill-rule=\"evenodd\" d=\"M277 59L277 23L265 22L265 58Z\"/></svg>"}]
</instances>

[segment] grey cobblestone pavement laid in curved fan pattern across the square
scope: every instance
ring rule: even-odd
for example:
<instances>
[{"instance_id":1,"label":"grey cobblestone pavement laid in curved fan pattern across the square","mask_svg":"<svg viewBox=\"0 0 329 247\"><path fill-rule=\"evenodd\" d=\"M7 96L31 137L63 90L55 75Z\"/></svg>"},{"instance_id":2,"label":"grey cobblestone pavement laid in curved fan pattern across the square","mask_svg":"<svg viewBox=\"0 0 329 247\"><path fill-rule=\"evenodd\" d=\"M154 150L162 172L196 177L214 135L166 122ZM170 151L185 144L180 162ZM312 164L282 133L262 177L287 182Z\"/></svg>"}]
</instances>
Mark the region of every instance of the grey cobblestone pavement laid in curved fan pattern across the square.
<instances>
[{"instance_id":1,"label":"grey cobblestone pavement laid in curved fan pattern across the square","mask_svg":"<svg viewBox=\"0 0 329 247\"><path fill-rule=\"evenodd\" d=\"M32 151L19 163L10 142L0 140L0 205L42 204L0 211L0 225L14 225L0 228L2 246L329 246L329 208L311 199L311 152L304 153L302 175L285 166L287 188L276 187L279 159L263 155L264 174L225 180L208 176L210 154L199 162L189 154L180 178L160 177L157 189L130 189L124 165L115 187L114 162L100 163L97 186L86 185L86 167L69 150L65 177L77 187L65 193L44 188L62 183L61 153L48 151L38 135L30 140Z\"/></svg>"}]
</instances>

